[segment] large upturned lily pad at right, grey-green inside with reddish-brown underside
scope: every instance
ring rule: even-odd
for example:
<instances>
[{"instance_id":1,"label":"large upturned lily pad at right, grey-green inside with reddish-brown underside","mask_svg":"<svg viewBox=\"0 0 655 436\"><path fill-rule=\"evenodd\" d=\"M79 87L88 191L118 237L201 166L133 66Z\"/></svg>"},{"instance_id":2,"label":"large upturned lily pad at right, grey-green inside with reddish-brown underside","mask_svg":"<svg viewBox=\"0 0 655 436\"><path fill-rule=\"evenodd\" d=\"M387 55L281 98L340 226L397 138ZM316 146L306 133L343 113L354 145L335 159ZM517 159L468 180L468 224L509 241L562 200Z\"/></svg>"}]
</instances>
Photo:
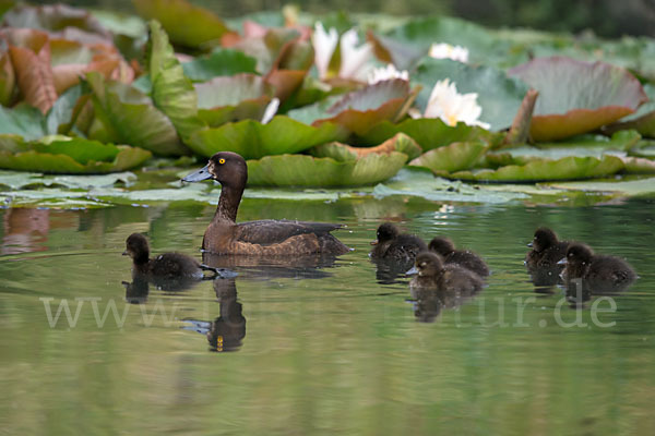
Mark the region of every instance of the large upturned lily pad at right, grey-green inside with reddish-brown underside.
<instances>
[{"instance_id":1,"label":"large upturned lily pad at right, grey-green inside with reddish-brown underside","mask_svg":"<svg viewBox=\"0 0 655 436\"><path fill-rule=\"evenodd\" d=\"M634 112L647 99L632 74L604 62L539 58L509 74L539 92L531 126L535 141L596 130Z\"/></svg>"}]
</instances>

